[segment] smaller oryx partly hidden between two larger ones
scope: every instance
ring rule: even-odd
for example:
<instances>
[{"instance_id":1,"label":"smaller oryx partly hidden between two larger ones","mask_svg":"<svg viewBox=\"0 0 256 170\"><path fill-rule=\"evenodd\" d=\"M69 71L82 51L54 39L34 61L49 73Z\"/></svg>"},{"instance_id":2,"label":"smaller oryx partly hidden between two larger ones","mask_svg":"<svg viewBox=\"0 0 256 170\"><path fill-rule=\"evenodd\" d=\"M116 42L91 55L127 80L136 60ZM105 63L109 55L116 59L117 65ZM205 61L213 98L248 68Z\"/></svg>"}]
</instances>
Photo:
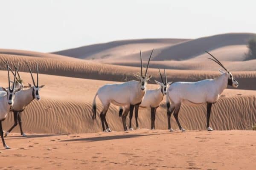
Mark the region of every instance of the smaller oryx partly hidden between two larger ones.
<instances>
[{"instance_id":1,"label":"smaller oryx partly hidden between two larger ones","mask_svg":"<svg viewBox=\"0 0 256 170\"><path fill-rule=\"evenodd\" d=\"M167 82L165 69L164 69L165 82L163 81L163 77L162 77L160 69L158 69L158 70L159 70L162 82L158 82L157 80L155 80L155 82L158 85L160 85L160 87L157 89L147 90L141 104L135 106L135 119L136 119L137 129L139 128L139 125L138 125L139 107L140 108L151 108L151 129L152 130L155 129L155 119L156 119L157 108L160 106L160 103L163 100L163 96L165 96L167 94L167 89L168 89L169 85L172 84L172 82ZM128 106L125 106L125 111L123 113L123 116L127 116L129 109L130 108ZM122 116L122 110L123 110L122 107L120 107L119 116Z\"/></svg>"}]
</instances>

